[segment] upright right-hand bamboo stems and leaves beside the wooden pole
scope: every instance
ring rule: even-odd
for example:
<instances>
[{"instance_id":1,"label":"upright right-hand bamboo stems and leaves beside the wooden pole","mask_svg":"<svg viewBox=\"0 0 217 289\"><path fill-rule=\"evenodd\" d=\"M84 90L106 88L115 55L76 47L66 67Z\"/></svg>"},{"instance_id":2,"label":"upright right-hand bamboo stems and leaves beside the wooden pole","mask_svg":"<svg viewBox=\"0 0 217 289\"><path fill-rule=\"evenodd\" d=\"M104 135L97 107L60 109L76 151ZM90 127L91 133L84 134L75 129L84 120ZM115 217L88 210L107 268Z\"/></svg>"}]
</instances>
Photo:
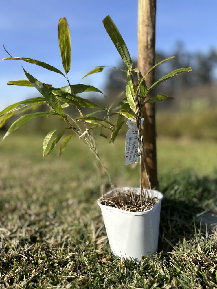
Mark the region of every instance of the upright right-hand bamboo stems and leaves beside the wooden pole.
<instances>
[{"instance_id":1,"label":"upright right-hand bamboo stems and leaves beside the wooden pole","mask_svg":"<svg viewBox=\"0 0 217 289\"><path fill-rule=\"evenodd\" d=\"M180 73L189 72L192 69L190 67L176 69L164 75L163 77L161 77L159 80L157 80L148 88L146 86L146 81L145 81L145 78L147 77L147 75L155 67L162 64L165 61L168 61L174 58L174 56L157 63L149 71L147 71L147 73L143 76L141 74L141 71L138 68L133 68L133 62L130 57L130 53L126 47L126 44L109 15L103 20L103 24L126 66L126 70L115 67L116 69L120 69L126 73L127 85L126 85L126 90L123 95L123 98L119 102L119 105L117 106L115 112L112 113L112 114L119 114L119 117L117 118L117 125L113 134L112 141L115 140L122 125L124 124L124 121L123 121L124 117L128 118L130 121L135 121L136 126L137 126L137 135L138 135L138 150L137 150L138 160L141 156L141 161L144 162L144 159L142 158L143 151L144 151L144 142L143 142L143 135L142 135L142 128L141 128L141 119L143 118L142 108L144 105L146 105L146 103L155 103L155 102L163 101L165 99L172 98L163 94L158 94L151 98L148 98L147 97L148 94L152 92L152 90L154 90L163 81L166 81L170 79L171 77L179 75ZM147 171L146 171L146 176L148 178ZM143 205L142 199L144 196L142 184L140 185L140 187L141 187L140 204L142 207ZM151 189L150 182L149 182L149 188Z\"/></svg>"}]
</instances>

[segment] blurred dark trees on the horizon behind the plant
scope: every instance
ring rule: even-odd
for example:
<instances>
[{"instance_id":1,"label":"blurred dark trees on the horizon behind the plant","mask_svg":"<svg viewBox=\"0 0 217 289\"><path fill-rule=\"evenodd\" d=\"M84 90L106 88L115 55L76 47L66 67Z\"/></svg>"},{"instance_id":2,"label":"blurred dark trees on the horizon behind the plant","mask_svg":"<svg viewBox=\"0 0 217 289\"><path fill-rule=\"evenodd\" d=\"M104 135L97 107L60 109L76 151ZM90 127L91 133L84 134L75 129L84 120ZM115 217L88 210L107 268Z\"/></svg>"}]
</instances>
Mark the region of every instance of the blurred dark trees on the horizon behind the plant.
<instances>
[{"instance_id":1,"label":"blurred dark trees on the horizon behind the plant","mask_svg":"<svg viewBox=\"0 0 217 289\"><path fill-rule=\"evenodd\" d=\"M185 51L182 43L177 43L174 52L169 55L163 52L156 52L155 62L158 63L172 55L176 57L155 68L156 79L159 79L168 71L183 66L192 67L192 72L171 78L156 88L156 93L161 92L175 98L172 101L164 101L157 104L157 109L182 109L183 100L186 102L186 107L190 107L191 100L195 98L206 98L204 104L217 104L217 51L211 49L208 53L189 53ZM117 64L117 66L123 68L121 63ZM134 66L137 66L136 61L134 61ZM111 101L111 99L113 101L117 99L118 102L118 96L124 91L125 86L124 73L111 69L104 90L108 97L107 102ZM201 102L202 108L203 102Z\"/></svg>"}]
</instances>

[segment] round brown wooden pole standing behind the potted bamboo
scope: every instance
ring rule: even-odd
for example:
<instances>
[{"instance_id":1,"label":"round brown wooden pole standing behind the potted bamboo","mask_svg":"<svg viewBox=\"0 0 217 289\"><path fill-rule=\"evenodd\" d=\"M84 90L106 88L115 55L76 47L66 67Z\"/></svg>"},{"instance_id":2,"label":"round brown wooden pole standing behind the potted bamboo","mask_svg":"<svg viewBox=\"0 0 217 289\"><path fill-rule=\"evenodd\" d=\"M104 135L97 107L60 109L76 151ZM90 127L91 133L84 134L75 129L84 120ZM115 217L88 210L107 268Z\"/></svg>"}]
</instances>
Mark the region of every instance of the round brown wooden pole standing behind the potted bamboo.
<instances>
[{"instance_id":1,"label":"round brown wooden pole standing behind the potted bamboo","mask_svg":"<svg viewBox=\"0 0 217 289\"><path fill-rule=\"evenodd\" d=\"M156 0L139 0L138 20L138 68L142 75L155 64L155 16ZM154 71L146 77L149 88L154 82ZM149 94L147 99L152 95ZM146 104L143 108L142 134L145 152L143 158L150 179L151 187L158 185L157 181L157 156L156 156L156 128L155 128L155 103ZM141 183L143 188L148 188L145 167L142 164Z\"/></svg>"}]
</instances>

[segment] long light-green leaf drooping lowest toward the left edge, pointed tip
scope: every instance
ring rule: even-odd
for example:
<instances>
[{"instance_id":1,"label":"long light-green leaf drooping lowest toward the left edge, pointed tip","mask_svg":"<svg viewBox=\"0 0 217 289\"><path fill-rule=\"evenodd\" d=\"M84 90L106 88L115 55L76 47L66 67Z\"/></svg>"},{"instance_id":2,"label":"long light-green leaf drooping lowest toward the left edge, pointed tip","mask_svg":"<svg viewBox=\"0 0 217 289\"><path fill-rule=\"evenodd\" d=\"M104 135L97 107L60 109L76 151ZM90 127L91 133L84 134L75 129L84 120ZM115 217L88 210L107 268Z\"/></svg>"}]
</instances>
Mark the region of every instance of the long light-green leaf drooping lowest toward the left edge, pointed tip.
<instances>
[{"instance_id":1,"label":"long light-green leaf drooping lowest toward the left edge, pointed tip","mask_svg":"<svg viewBox=\"0 0 217 289\"><path fill-rule=\"evenodd\" d=\"M21 127L21 125L24 125L25 123L27 123L31 119L36 118L38 116L47 116L47 115L52 115L52 114L53 115L60 115L60 114L55 113L55 112L35 112L35 113L25 114L25 115L21 116L16 121L14 121L14 123L12 123L12 125L9 127L8 131L4 135L3 139L5 139L9 134L11 134L13 131L18 129L19 127ZM66 117L65 114L62 114L61 116Z\"/></svg>"}]
</instances>

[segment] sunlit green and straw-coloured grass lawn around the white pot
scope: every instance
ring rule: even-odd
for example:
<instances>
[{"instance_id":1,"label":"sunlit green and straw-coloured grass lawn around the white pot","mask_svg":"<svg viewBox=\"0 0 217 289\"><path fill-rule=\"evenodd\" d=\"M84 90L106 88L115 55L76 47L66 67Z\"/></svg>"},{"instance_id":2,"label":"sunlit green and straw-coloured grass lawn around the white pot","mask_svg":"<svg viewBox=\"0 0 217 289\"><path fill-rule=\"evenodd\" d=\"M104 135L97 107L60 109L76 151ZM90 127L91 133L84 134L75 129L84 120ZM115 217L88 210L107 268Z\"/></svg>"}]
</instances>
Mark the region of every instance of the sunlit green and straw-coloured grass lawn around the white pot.
<instances>
[{"instance_id":1,"label":"sunlit green and straw-coloured grass lawn around the white pot","mask_svg":"<svg viewBox=\"0 0 217 289\"><path fill-rule=\"evenodd\" d=\"M42 157L42 135L15 132L0 146L0 288L217 288L217 232L195 221L217 209L216 142L158 140L159 250L140 265L108 245L94 156L72 138ZM116 186L138 186L124 139L99 153Z\"/></svg>"}]
</instances>

